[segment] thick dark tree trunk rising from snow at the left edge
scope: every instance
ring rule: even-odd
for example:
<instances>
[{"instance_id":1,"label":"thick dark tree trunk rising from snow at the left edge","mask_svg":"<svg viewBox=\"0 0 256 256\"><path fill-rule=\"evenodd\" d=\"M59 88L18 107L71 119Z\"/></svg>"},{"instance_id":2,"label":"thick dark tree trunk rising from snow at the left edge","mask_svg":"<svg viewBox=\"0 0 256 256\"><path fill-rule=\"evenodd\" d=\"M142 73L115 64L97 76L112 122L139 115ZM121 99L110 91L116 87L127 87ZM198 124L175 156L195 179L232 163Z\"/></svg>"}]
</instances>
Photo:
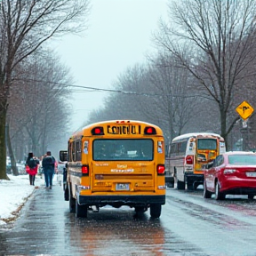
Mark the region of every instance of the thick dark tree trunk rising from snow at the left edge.
<instances>
[{"instance_id":1,"label":"thick dark tree trunk rising from snow at the left edge","mask_svg":"<svg viewBox=\"0 0 256 256\"><path fill-rule=\"evenodd\" d=\"M9 180L6 175L5 121L7 110L0 105L0 180Z\"/></svg>"}]
</instances>

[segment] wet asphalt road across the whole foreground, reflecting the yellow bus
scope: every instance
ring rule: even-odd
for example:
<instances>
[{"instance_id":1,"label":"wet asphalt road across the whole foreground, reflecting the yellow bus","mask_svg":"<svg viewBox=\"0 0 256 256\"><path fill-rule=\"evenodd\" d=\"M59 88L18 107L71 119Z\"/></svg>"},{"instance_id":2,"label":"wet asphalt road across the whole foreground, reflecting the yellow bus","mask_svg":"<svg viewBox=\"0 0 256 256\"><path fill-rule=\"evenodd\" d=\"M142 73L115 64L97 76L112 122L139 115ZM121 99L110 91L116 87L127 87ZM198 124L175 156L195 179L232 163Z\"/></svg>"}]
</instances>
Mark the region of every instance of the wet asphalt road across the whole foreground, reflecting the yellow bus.
<instances>
[{"instance_id":1,"label":"wet asphalt road across the whole foreground, reflecting the yellow bus","mask_svg":"<svg viewBox=\"0 0 256 256\"><path fill-rule=\"evenodd\" d=\"M60 185L38 188L13 227L0 230L0 255L256 255L256 200L205 201L202 191L167 189L159 220L104 207L76 219Z\"/></svg>"}]
</instances>

